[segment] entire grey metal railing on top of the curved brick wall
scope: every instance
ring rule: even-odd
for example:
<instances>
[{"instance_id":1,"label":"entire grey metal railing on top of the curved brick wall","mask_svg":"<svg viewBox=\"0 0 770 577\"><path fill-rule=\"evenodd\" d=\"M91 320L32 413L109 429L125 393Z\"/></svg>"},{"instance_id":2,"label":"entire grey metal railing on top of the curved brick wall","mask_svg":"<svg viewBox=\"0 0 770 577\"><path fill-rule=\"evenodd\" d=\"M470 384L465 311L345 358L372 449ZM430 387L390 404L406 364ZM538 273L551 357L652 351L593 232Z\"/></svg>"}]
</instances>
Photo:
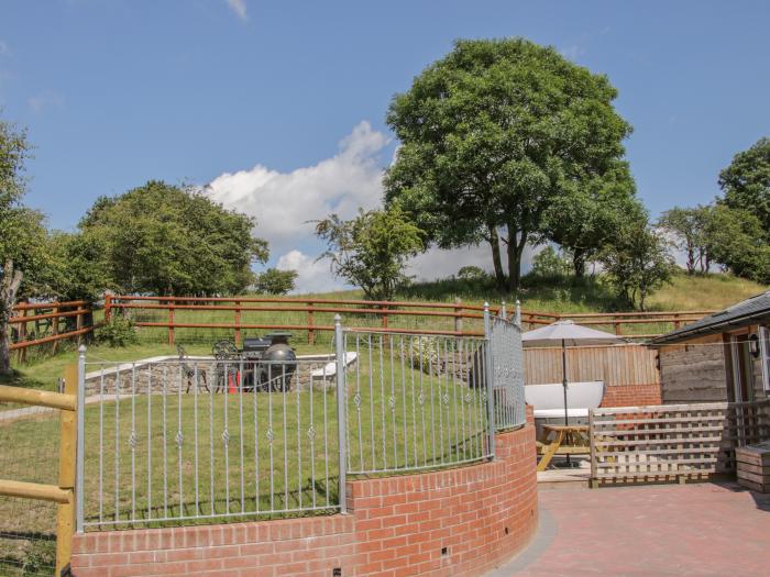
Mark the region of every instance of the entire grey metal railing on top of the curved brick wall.
<instances>
[{"instance_id":1,"label":"entire grey metal railing on top of the curved brick wall","mask_svg":"<svg viewBox=\"0 0 770 577\"><path fill-rule=\"evenodd\" d=\"M494 457L495 422L524 423L522 356L484 317L488 337L338 318L333 352L288 362L81 356L78 530L344 511L348 475Z\"/></svg>"}]
</instances>

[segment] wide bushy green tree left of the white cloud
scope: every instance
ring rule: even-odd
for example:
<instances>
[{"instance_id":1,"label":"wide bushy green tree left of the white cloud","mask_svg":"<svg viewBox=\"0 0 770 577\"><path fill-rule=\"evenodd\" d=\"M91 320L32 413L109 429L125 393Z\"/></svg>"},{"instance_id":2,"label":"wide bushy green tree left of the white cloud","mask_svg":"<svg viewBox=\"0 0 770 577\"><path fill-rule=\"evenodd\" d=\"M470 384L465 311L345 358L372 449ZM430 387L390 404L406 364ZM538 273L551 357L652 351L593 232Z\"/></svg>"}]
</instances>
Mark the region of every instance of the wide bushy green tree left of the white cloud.
<instances>
[{"instance_id":1,"label":"wide bushy green tree left of the white cloud","mask_svg":"<svg viewBox=\"0 0 770 577\"><path fill-rule=\"evenodd\" d=\"M109 284L128 292L233 293L253 282L251 265L267 258L253 219L162 181L98 199L80 231L80 249L98 247Z\"/></svg>"}]
</instances>

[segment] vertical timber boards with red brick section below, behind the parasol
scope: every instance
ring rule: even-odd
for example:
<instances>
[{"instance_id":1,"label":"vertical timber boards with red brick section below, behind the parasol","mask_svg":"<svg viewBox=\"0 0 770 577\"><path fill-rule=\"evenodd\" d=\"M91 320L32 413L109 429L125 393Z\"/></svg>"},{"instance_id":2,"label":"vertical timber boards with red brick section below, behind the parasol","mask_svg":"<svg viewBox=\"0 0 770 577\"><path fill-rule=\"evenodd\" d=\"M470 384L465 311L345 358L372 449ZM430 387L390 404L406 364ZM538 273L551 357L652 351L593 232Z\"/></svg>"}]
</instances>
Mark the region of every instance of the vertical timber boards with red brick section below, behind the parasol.
<instances>
[{"instance_id":1,"label":"vertical timber boards with red brick section below, behind the parasol","mask_svg":"<svg viewBox=\"0 0 770 577\"><path fill-rule=\"evenodd\" d=\"M579 346L566 349L566 376L572 382L602 380L602 407L642 407L661 403L657 351L628 344ZM561 348L525 348L525 382L561 382Z\"/></svg>"}]
</instances>

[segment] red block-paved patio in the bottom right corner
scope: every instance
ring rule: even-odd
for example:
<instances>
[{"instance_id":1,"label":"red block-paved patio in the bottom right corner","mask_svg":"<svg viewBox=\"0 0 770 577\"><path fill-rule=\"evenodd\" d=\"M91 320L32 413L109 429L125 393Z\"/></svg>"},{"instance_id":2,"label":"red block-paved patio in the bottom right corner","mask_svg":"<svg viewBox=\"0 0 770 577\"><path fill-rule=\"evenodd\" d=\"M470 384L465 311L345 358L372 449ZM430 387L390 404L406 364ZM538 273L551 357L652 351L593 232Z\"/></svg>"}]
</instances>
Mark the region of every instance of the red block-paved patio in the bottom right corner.
<instances>
[{"instance_id":1,"label":"red block-paved patio in the bottom right corner","mask_svg":"<svg viewBox=\"0 0 770 577\"><path fill-rule=\"evenodd\" d=\"M487 577L770 575L770 495L736 484L540 491L540 515Z\"/></svg>"}]
</instances>

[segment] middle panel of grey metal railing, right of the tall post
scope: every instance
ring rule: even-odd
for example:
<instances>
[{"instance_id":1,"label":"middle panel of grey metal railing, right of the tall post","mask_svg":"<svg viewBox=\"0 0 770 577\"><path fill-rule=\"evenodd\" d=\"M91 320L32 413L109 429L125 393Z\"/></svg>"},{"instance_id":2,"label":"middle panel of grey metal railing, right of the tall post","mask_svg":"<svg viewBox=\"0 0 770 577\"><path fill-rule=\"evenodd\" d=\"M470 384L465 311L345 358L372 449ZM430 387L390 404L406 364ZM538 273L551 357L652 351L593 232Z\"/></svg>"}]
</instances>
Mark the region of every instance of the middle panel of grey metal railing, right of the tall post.
<instances>
[{"instance_id":1,"label":"middle panel of grey metal railing, right of the tall post","mask_svg":"<svg viewBox=\"0 0 770 577\"><path fill-rule=\"evenodd\" d=\"M487 342L345 330L348 473L419 470L492 456Z\"/></svg>"}]
</instances>

